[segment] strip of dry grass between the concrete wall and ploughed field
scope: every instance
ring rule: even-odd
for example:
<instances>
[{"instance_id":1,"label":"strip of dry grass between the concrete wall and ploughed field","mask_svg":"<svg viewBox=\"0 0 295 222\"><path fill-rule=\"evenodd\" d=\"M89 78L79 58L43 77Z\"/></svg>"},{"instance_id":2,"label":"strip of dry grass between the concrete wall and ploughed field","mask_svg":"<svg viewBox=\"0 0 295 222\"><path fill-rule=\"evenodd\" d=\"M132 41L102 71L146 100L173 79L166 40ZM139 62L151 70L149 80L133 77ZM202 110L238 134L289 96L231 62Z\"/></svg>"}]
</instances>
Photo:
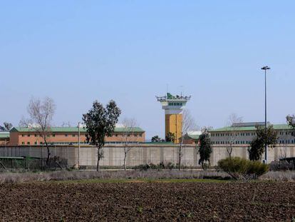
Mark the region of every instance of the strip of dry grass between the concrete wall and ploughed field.
<instances>
[{"instance_id":1,"label":"strip of dry grass between the concrete wall and ploughed field","mask_svg":"<svg viewBox=\"0 0 295 222\"><path fill-rule=\"evenodd\" d=\"M98 181L197 181L198 179L213 179L215 181L230 180L227 173L220 171L40 171L40 172L2 172L1 183L24 183L33 181L83 181L97 179ZM270 171L259 180L295 181L295 171Z\"/></svg>"}]
</instances>

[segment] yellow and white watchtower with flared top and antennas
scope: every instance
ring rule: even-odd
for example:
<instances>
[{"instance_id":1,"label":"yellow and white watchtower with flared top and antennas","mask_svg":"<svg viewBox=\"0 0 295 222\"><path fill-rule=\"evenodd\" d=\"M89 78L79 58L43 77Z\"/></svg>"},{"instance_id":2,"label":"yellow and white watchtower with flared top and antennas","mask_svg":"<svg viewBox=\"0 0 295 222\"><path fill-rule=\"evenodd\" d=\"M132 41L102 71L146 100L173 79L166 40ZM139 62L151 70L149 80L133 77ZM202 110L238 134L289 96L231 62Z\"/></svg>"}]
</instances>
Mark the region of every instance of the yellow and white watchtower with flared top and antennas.
<instances>
[{"instance_id":1,"label":"yellow and white watchtower with flared top and antennas","mask_svg":"<svg viewBox=\"0 0 295 222\"><path fill-rule=\"evenodd\" d=\"M182 135L182 109L190 100L191 96L172 96L167 93L167 96L156 96L157 101L160 101L162 109L165 110L165 136L168 133L174 133L175 143L180 142Z\"/></svg>"}]
</instances>

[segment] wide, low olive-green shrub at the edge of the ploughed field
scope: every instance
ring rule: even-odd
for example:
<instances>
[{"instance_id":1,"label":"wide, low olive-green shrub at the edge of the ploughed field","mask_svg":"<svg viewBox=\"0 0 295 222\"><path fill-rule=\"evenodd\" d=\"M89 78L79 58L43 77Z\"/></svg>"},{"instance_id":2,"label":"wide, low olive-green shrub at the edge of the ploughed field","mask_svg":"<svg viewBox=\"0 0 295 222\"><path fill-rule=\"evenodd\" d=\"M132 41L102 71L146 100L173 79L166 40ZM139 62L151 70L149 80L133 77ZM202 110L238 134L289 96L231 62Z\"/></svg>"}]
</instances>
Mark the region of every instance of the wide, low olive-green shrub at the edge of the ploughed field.
<instances>
[{"instance_id":1,"label":"wide, low olive-green shrub at the edge of the ploughed field","mask_svg":"<svg viewBox=\"0 0 295 222\"><path fill-rule=\"evenodd\" d=\"M228 173L234 179L256 179L269 170L269 166L259 161L249 161L244 158L224 158L217 163L218 168Z\"/></svg>"}]
</instances>

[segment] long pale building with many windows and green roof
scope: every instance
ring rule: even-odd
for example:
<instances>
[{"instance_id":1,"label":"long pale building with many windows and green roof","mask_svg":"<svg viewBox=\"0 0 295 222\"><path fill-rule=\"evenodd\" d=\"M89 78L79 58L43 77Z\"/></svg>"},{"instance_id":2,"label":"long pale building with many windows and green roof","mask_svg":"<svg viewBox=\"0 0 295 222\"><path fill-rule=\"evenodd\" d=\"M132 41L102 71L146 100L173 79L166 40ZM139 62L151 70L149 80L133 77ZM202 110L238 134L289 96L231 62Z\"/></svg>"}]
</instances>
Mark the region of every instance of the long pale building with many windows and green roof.
<instances>
[{"instance_id":1,"label":"long pale building with many windows and green roof","mask_svg":"<svg viewBox=\"0 0 295 222\"><path fill-rule=\"evenodd\" d=\"M267 123L269 126L270 123ZM264 122L234 123L232 126L210 130L212 144L227 145L231 141L233 144L249 145L253 138L257 136L257 126L264 127ZM274 124L277 131L278 144L294 144L294 129L287 124Z\"/></svg>"}]
</instances>

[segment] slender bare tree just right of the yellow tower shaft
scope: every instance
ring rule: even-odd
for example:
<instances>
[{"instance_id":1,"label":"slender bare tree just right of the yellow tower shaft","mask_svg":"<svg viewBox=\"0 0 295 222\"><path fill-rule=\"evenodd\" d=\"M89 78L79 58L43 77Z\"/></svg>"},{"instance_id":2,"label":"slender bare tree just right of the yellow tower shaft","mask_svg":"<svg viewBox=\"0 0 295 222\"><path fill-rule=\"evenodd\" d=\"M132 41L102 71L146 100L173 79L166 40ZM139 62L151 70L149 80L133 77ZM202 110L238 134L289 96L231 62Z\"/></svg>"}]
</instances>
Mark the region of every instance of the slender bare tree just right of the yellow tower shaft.
<instances>
[{"instance_id":1,"label":"slender bare tree just right of the yellow tower shaft","mask_svg":"<svg viewBox=\"0 0 295 222\"><path fill-rule=\"evenodd\" d=\"M188 131L192 131L195 128L197 128L197 125L195 124L194 118L190 115L190 111L187 109L182 111L182 133L180 138L180 146L178 148L178 170L180 170L181 165L181 158L183 156L182 153L182 147L183 147L183 141L185 138L185 135Z\"/></svg>"}]
</instances>

